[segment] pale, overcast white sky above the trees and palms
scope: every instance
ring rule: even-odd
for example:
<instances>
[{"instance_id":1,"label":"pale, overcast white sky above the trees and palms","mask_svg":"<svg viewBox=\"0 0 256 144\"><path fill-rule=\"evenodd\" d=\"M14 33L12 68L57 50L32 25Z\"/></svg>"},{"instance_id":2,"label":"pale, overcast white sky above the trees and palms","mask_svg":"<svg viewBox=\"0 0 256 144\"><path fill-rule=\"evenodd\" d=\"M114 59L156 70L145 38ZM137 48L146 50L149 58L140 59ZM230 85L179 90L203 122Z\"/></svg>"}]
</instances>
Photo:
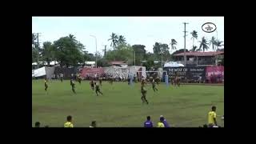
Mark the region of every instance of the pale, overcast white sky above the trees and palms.
<instances>
[{"instance_id":1,"label":"pale, overcast white sky above the trees and palms","mask_svg":"<svg viewBox=\"0 0 256 144\"><path fill-rule=\"evenodd\" d=\"M95 54L97 39L98 52L102 53L104 45L106 50L113 50L110 46L110 35L112 33L123 35L126 42L131 46L141 44L146 46L147 52L153 52L155 42L166 43L170 47L171 39L174 38L177 50L184 49L184 24L186 25L186 49L193 46L191 34L193 30L198 32L198 39L194 41L195 46L204 36L207 40L211 37L224 41L224 17L32 17L32 33L39 33L39 42L54 42L58 38L73 34L75 38L86 46L89 53ZM202 25L213 22L217 30L206 33ZM212 51L211 46L210 50ZM174 50L170 50L171 53Z\"/></svg>"}]
</instances>

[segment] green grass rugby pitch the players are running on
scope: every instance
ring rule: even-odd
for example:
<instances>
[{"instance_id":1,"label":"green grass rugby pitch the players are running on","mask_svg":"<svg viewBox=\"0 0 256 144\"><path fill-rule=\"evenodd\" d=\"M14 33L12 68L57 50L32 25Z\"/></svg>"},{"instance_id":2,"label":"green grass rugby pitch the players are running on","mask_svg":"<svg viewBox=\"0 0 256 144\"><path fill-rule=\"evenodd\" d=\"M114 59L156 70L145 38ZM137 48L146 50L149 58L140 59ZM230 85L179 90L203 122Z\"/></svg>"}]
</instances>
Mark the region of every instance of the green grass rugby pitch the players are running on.
<instances>
[{"instance_id":1,"label":"green grass rugby pitch the players are running on","mask_svg":"<svg viewBox=\"0 0 256 144\"><path fill-rule=\"evenodd\" d=\"M224 86L180 87L159 84L158 92L147 85L149 105L142 104L140 83L102 82L103 95L96 96L89 81L76 82L73 94L70 81L48 82L48 94L43 80L32 80L32 126L63 127L66 116L72 115L74 127L89 127L95 120L98 127L142 127L150 115L156 126L163 115L174 127L198 127L207 123L211 106L217 106L217 115L224 114ZM221 117L219 126L224 126Z\"/></svg>"}]
</instances>

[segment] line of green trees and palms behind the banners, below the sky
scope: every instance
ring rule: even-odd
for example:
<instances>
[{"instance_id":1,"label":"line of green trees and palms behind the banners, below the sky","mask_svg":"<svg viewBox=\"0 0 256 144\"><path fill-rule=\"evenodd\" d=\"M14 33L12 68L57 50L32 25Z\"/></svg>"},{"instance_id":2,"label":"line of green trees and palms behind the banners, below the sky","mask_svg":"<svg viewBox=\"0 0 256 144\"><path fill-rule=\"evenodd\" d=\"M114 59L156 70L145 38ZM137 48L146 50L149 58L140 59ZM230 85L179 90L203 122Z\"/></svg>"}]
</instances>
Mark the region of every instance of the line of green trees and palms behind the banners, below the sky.
<instances>
[{"instance_id":1,"label":"line of green trees and palms behind the banners, below the sky","mask_svg":"<svg viewBox=\"0 0 256 144\"><path fill-rule=\"evenodd\" d=\"M192 35L193 47L186 51L205 51L212 46L213 50L218 50L219 46L223 46L222 41L212 37L208 42L205 37L199 41L199 46L194 46L194 40L198 39L198 34L194 30ZM155 42L153 53L146 52L144 45L131 46L126 42L123 35L112 33L108 39L110 46L113 48L107 50L106 54L89 54L86 47L79 42L73 34L59 38L54 42L43 42L42 46L38 45L35 34L32 34L32 62L44 61L50 65L51 61L59 62L60 66L78 66L85 61L95 61L97 56L98 66L110 66L111 61L123 61L132 66L146 66L146 69L161 67L163 62L173 60L173 54L184 52L183 49L177 50L178 42L175 39L170 40L170 44ZM175 50L172 54L172 50ZM134 62L135 54L135 62ZM158 63L154 63L158 61Z\"/></svg>"}]
</instances>

